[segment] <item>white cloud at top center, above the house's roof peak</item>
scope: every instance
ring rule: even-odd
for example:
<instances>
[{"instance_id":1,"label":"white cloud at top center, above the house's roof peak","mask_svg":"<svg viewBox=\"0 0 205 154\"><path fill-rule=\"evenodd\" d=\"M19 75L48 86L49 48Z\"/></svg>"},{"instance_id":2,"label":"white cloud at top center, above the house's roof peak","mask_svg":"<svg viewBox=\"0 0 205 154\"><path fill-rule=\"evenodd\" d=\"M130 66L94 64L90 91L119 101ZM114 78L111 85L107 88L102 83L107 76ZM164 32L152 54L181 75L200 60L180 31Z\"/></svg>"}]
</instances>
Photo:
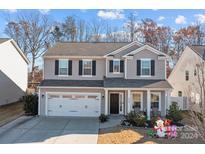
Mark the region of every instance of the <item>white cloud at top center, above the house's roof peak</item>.
<instances>
[{"instance_id":1,"label":"white cloud at top center, above the house's roof peak","mask_svg":"<svg viewBox=\"0 0 205 154\"><path fill-rule=\"evenodd\" d=\"M123 19L125 16L123 14L123 10L100 10L97 15L103 19Z\"/></svg>"}]
</instances>

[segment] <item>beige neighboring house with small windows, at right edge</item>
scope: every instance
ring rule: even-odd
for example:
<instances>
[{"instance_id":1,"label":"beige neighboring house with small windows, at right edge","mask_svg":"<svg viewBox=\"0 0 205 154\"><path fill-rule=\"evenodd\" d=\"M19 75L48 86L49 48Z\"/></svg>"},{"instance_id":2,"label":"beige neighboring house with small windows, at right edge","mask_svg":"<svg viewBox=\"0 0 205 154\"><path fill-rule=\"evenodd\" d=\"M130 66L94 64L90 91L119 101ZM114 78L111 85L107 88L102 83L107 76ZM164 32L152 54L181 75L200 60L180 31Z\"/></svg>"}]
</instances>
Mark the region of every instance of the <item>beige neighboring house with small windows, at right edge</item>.
<instances>
[{"instance_id":1,"label":"beige neighboring house with small windows, at right edge","mask_svg":"<svg viewBox=\"0 0 205 154\"><path fill-rule=\"evenodd\" d=\"M181 97L182 103L186 102L187 109L190 103L199 103L200 88L197 75L197 64L205 60L205 46L187 46L180 56L176 66L171 72L168 81L172 85L172 97ZM175 100L179 101L180 99ZM191 102L189 100L192 100Z\"/></svg>"}]
</instances>

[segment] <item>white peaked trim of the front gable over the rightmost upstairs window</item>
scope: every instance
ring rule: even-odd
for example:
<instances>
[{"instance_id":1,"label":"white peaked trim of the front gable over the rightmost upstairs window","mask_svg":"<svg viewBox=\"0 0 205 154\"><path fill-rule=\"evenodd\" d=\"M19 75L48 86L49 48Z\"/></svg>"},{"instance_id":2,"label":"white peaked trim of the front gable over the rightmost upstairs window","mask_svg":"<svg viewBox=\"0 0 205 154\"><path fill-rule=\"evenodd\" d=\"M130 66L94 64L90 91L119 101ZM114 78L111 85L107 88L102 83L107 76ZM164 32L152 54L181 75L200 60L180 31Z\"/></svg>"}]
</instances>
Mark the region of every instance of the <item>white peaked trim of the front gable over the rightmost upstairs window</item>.
<instances>
[{"instance_id":1,"label":"white peaked trim of the front gable over the rightmost upstairs window","mask_svg":"<svg viewBox=\"0 0 205 154\"><path fill-rule=\"evenodd\" d=\"M134 54L136 54L136 53L138 53L138 52L140 52L140 51L143 51L144 49L147 49L147 50L149 50L149 51L151 51L151 52L153 52L153 53L155 53L155 54L157 54L157 55L164 55L166 58L168 58L169 56L167 55L167 54L165 54L165 53L163 53L163 52L161 52L161 51L159 51L159 50L157 50L157 49L155 49L155 48L153 48L153 47L151 47L151 46L149 46L149 45L144 45L144 46L142 46L142 47L140 47L140 48L138 48L138 49L136 49L136 50L134 50L134 51L131 51L131 52L129 52L129 53L127 53L126 55L124 55L123 57L127 57L128 55L134 55Z\"/></svg>"}]
</instances>

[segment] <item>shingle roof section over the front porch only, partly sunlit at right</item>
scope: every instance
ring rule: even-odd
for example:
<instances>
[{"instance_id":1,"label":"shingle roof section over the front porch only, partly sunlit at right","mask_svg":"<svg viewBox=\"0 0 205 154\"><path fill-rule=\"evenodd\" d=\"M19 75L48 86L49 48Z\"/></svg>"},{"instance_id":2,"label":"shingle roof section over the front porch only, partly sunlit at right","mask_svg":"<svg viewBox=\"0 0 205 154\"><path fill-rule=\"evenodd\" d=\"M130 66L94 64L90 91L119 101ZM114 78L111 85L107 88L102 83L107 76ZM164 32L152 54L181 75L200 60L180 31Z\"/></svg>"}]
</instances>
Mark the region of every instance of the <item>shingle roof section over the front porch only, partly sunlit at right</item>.
<instances>
[{"instance_id":1,"label":"shingle roof section over the front porch only, partly sunlit at right","mask_svg":"<svg viewBox=\"0 0 205 154\"><path fill-rule=\"evenodd\" d=\"M104 87L108 88L172 88L166 80L106 78Z\"/></svg>"}]
</instances>

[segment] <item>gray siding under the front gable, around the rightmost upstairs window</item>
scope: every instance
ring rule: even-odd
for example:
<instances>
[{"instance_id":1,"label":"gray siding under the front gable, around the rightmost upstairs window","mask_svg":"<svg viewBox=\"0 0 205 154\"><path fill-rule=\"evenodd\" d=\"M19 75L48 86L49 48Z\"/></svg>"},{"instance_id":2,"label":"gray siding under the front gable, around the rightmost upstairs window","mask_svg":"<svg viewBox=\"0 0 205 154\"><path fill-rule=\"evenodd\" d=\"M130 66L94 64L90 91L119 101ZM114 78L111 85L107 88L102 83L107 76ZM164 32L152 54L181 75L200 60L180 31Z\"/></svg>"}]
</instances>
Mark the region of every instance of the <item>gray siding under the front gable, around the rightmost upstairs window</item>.
<instances>
[{"instance_id":1,"label":"gray siding under the front gable, around the rightmost upstairs window","mask_svg":"<svg viewBox=\"0 0 205 154\"><path fill-rule=\"evenodd\" d=\"M136 61L142 58L150 58L155 60L155 76L140 77L137 76ZM165 60L158 60L157 54L144 50L133 56L133 59L127 60L127 78L128 79L165 79Z\"/></svg>"}]
</instances>

